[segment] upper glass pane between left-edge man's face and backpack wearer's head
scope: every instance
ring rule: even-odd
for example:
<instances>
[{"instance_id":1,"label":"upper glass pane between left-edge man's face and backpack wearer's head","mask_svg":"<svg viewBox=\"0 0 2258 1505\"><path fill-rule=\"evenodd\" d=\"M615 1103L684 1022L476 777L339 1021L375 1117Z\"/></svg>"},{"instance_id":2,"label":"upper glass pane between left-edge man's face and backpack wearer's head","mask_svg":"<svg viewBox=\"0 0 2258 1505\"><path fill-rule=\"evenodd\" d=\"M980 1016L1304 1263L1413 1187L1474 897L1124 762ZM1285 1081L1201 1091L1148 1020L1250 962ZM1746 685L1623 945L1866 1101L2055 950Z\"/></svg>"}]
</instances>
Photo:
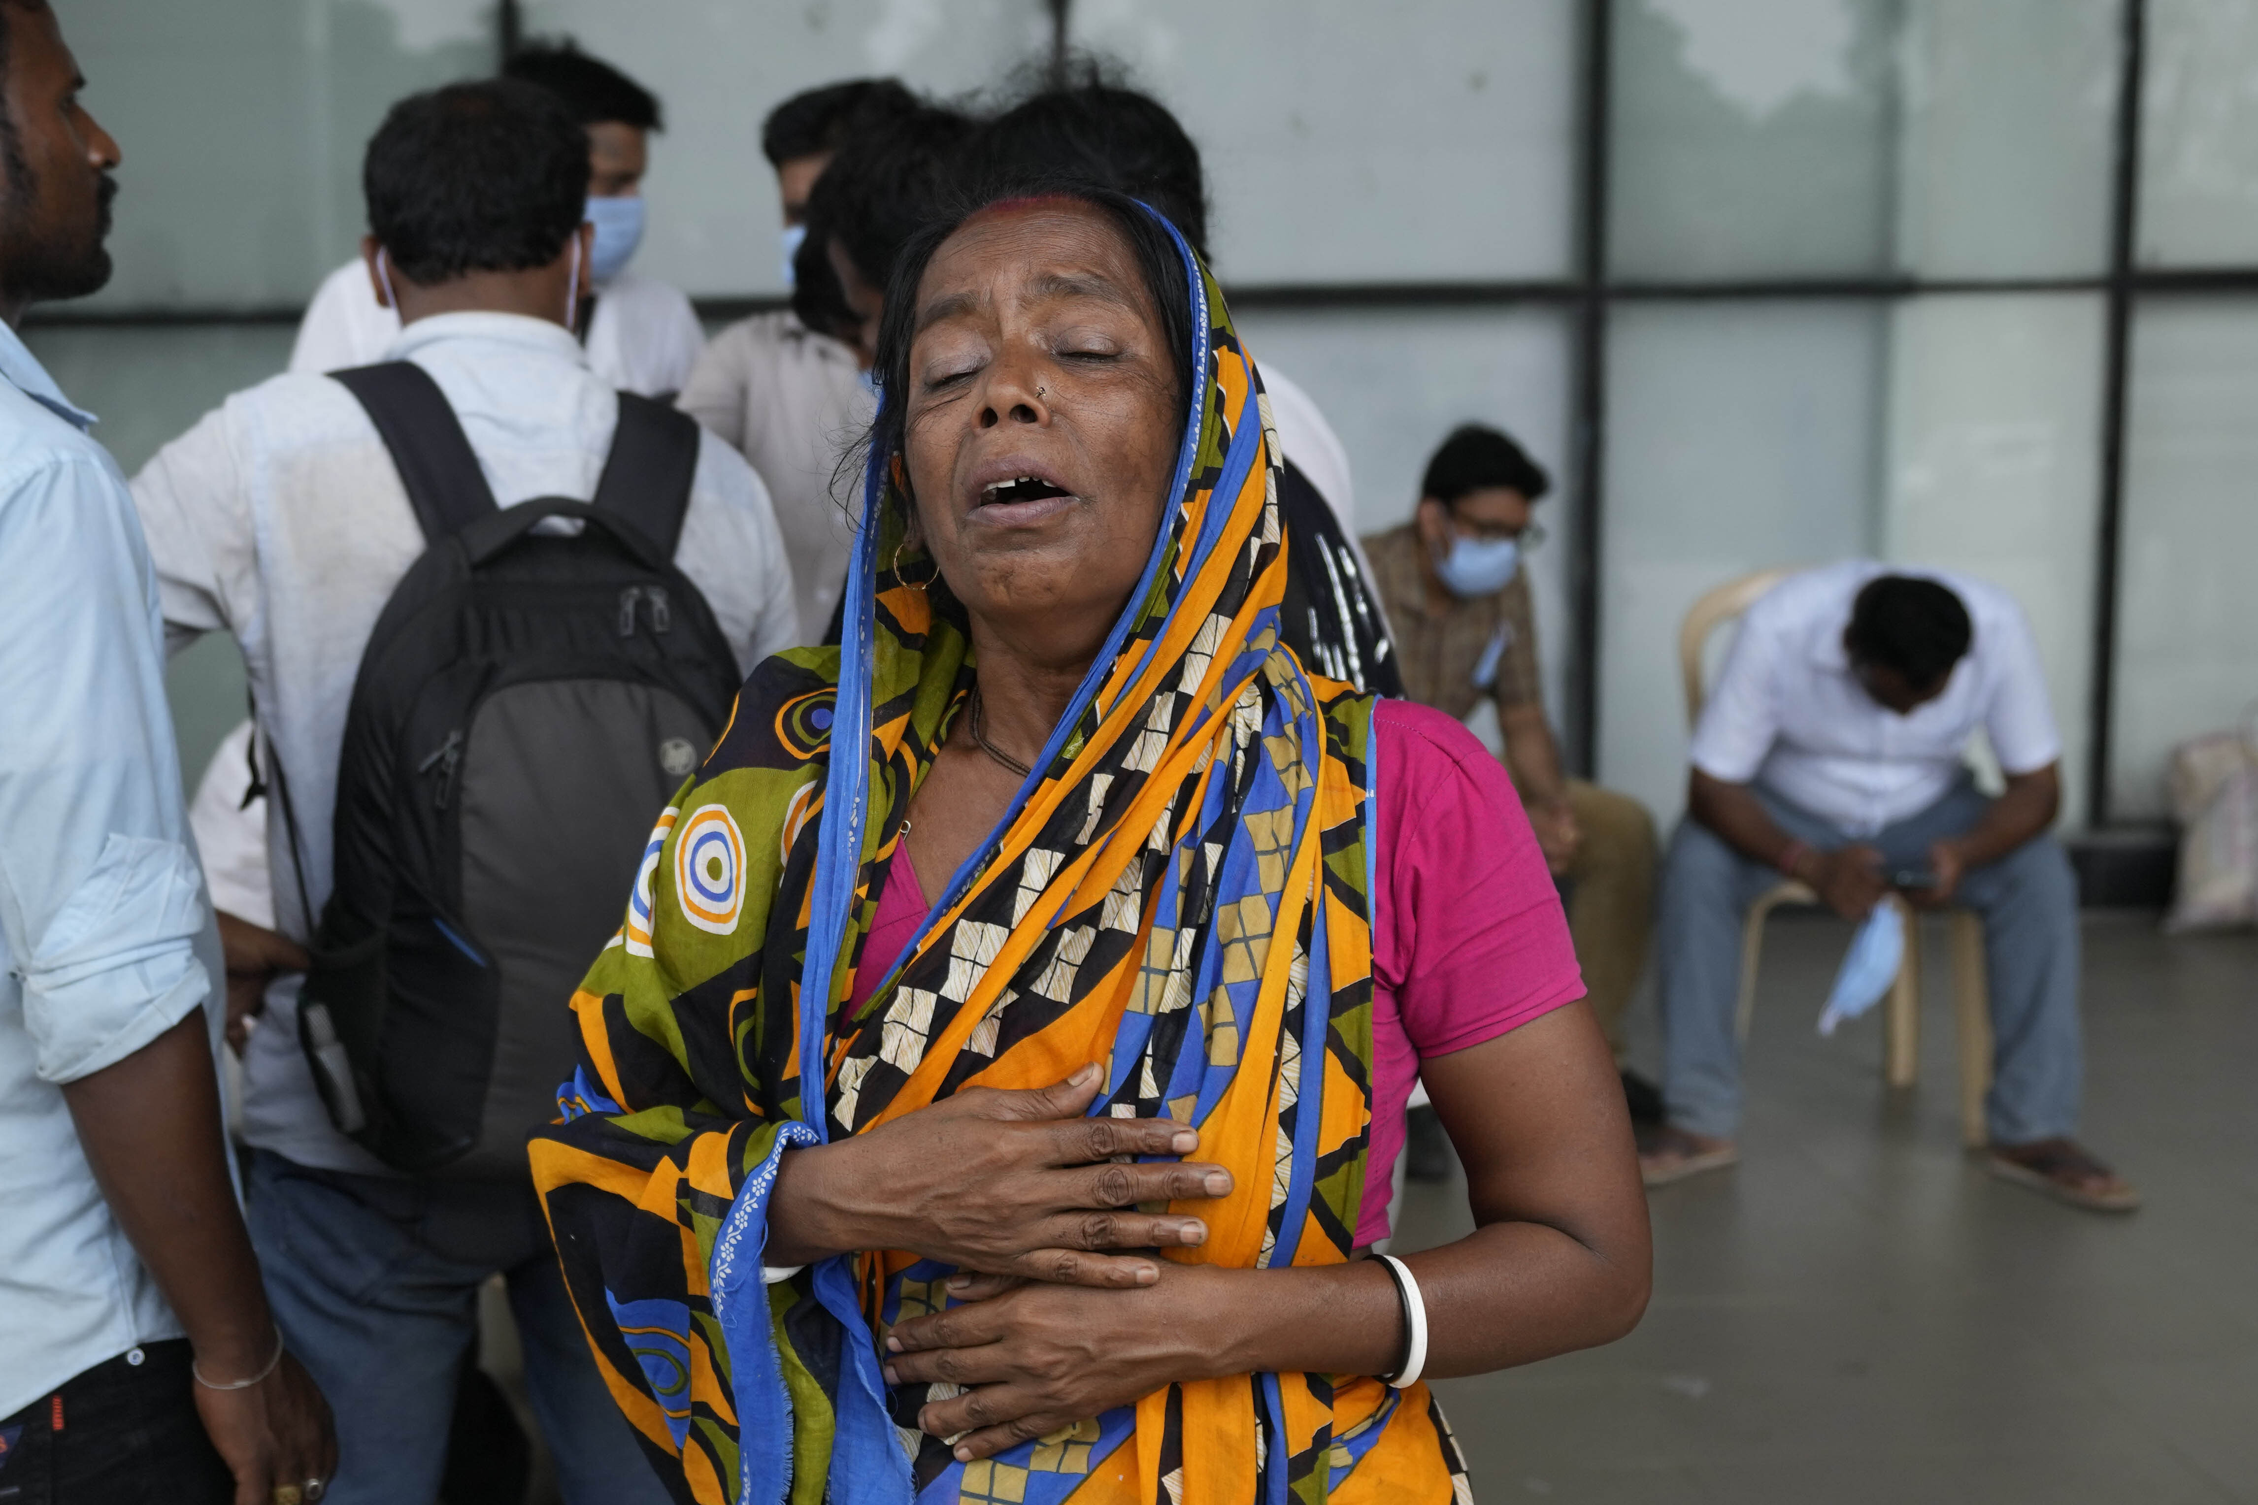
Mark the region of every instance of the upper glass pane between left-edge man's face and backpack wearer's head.
<instances>
[{"instance_id":1,"label":"upper glass pane between left-edge man's face and backpack wearer's head","mask_svg":"<svg viewBox=\"0 0 2258 1505\"><path fill-rule=\"evenodd\" d=\"M77 0L63 41L117 138L115 275L86 307L294 307L366 226L400 95L492 72L485 0Z\"/></svg>"}]
</instances>

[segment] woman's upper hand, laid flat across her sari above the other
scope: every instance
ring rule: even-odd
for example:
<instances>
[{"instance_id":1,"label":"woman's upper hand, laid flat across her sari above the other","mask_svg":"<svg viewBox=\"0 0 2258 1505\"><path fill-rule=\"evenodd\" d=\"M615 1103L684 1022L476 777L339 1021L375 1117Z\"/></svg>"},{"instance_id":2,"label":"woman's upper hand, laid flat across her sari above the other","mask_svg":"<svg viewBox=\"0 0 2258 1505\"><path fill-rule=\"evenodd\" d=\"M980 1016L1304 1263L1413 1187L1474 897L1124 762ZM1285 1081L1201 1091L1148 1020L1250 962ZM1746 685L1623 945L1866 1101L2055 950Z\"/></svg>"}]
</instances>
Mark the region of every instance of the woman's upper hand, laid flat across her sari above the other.
<instances>
[{"instance_id":1,"label":"woman's upper hand, laid flat across her sari above the other","mask_svg":"<svg viewBox=\"0 0 2258 1505\"><path fill-rule=\"evenodd\" d=\"M1208 1225L1149 1203L1231 1194L1192 1160L1199 1130L1170 1119L1084 1117L1102 1072L1021 1092L973 1088L869 1133L793 1151L772 1198L770 1264L899 1248L960 1270L1068 1286L1149 1286L1161 1261L1106 1250L1204 1243Z\"/></svg>"}]
</instances>

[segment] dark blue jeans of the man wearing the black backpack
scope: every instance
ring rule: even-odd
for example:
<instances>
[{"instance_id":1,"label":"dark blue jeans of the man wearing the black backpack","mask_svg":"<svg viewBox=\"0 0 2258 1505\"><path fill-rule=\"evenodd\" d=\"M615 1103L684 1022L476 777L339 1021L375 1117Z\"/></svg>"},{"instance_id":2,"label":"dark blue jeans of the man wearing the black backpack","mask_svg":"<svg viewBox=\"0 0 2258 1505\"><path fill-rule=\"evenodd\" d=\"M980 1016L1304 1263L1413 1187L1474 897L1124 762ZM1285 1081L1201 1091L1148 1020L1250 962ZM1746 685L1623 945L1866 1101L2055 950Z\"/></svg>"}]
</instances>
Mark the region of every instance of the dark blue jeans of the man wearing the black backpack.
<instances>
[{"instance_id":1,"label":"dark blue jeans of the man wearing the black backpack","mask_svg":"<svg viewBox=\"0 0 2258 1505\"><path fill-rule=\"evenodd\" d=\"M531 1182L348 1176L253 1151L248 1221L275 1320L336 1415L323 1505L436 1498L479 1284L497 1273L564 1503L666 1505L589 1356Z\"/></svg>"}]
</instances>

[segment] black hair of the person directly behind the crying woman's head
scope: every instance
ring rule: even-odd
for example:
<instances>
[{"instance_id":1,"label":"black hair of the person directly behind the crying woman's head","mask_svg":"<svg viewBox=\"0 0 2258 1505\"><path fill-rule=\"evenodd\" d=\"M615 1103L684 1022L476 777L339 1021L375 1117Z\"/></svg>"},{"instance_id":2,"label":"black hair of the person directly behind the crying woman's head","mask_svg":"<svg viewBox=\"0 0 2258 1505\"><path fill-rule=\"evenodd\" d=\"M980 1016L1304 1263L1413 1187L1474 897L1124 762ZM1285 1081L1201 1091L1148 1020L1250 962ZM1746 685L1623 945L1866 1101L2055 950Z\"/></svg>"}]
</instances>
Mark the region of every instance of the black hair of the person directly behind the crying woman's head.
<instances>
[{"instance_id":1,"label":"black hair of the person directly behind the crying woman's head","mask_svg":"<svg viewBox=\"0 0 2258 1505\"><path fill-rule=\"evenodd\" d=\"M1111 187L1161 210L1208 257L1208 181L1199 147L1152 95L1082 61L1079 79L1045 88L987 122L966 147L973 192L1054 174Z\"/></svg>"}]
</instances>

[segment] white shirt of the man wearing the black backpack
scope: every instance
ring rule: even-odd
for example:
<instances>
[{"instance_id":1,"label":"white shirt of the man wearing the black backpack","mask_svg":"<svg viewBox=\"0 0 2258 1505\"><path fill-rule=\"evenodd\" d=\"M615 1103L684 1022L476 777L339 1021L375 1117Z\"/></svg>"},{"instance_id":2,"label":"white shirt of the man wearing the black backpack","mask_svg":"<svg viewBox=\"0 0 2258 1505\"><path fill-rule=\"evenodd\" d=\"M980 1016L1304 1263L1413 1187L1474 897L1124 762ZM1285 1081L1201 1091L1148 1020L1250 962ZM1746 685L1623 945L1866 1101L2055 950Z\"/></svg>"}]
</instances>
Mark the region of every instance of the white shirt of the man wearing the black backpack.
<instances>
[{"instance_id":1,"label":"white shirt of the man wearing the black backpack","mask_svg":"<svg viewBox=\"0 0 2258 1505\"><path fill-rule=\"evenodd\" d=\"M386 352L447 395L499 505L592 496L619 393L562 325L517 314L420 318ZM675 564L714 607L750 672L797 641L793 575L768 490L700 435ZM330 817L345 706L393 587L425 551L406 492L361 404L327 377L285 375L228 397L133 478L174 648L226 630L260 706L260 756L280 763L298 817L307 898L330 896ZM269 821L275 927L312 934ZM298 1054L296 979L269 993L244 1051L244 1139L300 1164L382 1173L339 1135Z\"/></svg>"}]
</instances>

